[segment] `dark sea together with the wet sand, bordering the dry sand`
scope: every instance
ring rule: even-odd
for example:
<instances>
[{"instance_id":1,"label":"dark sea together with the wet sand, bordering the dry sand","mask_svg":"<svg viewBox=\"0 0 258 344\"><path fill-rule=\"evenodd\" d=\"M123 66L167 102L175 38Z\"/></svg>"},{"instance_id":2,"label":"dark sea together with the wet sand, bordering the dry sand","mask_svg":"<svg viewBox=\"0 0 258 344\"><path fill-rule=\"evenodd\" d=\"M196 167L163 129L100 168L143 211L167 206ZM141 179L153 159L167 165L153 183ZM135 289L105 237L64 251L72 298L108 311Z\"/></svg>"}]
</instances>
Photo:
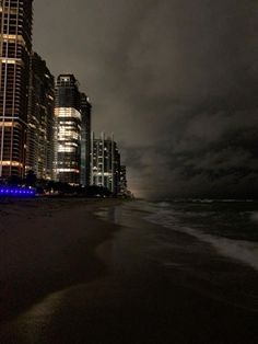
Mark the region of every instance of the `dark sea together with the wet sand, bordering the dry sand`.
<instances>
[{"instance_id":1,"label":"dark sea together with the wet sand, bordering the dry sand","mask_svg":"<svg viewBox=\"0 0 258 344\"><path fill-rule=\"evenodd\" d=\"M10 324L7 343L258 343L257 209L211 202L104 208L99 217L122 225L98 248L106 273L46 296Z\"/></svg>"}]
</instances>

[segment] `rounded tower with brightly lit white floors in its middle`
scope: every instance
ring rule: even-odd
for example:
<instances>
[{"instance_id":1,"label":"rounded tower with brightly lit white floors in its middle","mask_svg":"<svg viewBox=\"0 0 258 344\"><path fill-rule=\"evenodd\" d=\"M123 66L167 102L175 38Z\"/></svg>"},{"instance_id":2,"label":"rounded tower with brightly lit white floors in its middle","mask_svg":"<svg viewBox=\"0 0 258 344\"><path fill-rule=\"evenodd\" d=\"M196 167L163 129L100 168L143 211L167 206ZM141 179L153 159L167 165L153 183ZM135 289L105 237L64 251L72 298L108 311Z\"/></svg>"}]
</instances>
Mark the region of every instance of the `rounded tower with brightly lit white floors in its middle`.
<instances>
[{"instance_id":1,"label":"rounded tower with brightly lit white floors in its middle","mask_svg":"<svg viewBox=\"0 0 258 344\"><path fill-rule=\"evenodd\" d=\"M60 74L55 94L55 180L79 185L82 115L79 83L74 76Z\"/></svg>"}]
</instances>

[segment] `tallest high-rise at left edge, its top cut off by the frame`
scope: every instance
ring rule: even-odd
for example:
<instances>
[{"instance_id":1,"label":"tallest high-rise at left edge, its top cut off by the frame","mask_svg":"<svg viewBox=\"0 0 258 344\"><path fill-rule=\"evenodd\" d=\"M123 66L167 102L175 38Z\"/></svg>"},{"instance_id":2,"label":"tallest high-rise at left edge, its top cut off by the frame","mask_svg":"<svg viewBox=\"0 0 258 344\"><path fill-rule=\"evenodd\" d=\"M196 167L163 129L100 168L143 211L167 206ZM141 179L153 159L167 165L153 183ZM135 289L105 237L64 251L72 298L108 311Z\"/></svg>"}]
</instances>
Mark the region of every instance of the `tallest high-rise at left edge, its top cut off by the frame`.
<instances>
[{"instance_id":1,"label":"tallest high-rise at left edge, its top cut off by the frame","mask_svg":"<svg viewBox=\"0 0 258 344\"><path fill-rule=\"evenodd\" d=\"M0 177L25 172L32 2L0 1Z\"/></svg>"}]
</instances>

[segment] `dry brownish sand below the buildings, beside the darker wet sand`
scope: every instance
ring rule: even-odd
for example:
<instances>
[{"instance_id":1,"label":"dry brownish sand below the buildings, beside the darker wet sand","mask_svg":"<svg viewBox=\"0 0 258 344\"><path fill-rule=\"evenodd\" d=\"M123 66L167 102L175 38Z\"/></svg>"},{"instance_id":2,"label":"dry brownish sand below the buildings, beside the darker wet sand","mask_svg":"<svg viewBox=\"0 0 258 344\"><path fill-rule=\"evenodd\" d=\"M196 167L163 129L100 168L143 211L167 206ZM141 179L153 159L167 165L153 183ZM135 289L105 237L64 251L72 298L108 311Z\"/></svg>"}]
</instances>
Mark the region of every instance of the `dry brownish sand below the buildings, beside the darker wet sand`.
<instances>
[{"instance_id":1,"label":"dry brownish sand below the buildings, beside the darker wet sand","mask_svg":"<svg viewBox=\"0 0 258 344\"><path fill-rule=\"evenodd\" d=\"M95 254L118 226L94 213L118 199L10 199L0 211L1 322L69 286L98 278Z\"/></svg>"}]
</instances>

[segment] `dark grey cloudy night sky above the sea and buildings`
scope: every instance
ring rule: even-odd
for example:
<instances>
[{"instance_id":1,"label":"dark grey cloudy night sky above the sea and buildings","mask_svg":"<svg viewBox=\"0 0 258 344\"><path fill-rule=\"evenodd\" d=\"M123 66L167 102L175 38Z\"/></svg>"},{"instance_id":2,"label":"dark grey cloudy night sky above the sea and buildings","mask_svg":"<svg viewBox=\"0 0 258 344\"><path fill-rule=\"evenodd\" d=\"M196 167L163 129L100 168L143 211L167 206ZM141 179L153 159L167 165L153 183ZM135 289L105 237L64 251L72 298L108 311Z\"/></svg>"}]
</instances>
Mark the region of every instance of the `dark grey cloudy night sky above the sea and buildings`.
<instances>
[{"instance_id":1,"label":"dark grey cloudy night sky above the sea and buildings","mask_svg":"<svg viewBox=\"0 0 258 344\"><path fill-rule=\"evenodd\" d=\"M34 49L72 72L138 196L258 191L257 0L34 0Z\"/></svg>"}]
</instances>

